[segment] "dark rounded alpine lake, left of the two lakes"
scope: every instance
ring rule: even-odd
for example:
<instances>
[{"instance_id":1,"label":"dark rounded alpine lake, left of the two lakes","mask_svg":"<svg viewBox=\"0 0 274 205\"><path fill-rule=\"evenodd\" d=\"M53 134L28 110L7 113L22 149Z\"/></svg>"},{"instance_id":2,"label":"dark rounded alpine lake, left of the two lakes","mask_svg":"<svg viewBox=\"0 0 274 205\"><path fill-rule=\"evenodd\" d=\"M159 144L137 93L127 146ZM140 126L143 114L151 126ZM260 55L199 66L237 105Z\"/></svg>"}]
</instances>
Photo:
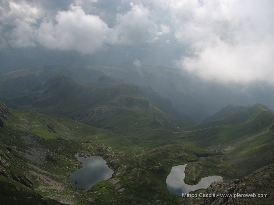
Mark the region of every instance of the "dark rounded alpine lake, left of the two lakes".
<instances>
[{"instance_id":1,"label":"dark rounded alpine lake, left of the two lakes","mask_svg":"<svg viewBox=\"0 0 274 205\"><path fill-rule=\"evenodd\" d=\"M70 174L69 180L73 188L87 191L93 184L111 178L114 173L100 156L79 157L79 153L75 156L83 162L83 167Z\"/></svg>"}]
</instances>

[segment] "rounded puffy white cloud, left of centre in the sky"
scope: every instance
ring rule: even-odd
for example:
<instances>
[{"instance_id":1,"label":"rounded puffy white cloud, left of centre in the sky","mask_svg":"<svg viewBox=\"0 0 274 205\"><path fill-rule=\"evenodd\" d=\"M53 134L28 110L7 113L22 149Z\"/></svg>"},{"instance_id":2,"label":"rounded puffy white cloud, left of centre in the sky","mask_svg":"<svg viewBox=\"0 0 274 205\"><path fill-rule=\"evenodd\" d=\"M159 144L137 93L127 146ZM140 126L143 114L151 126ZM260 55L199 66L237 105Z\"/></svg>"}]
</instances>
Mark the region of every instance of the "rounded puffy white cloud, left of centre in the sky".
<instances>
[{"instance_id":1,"label":"rounded puffy white cloud, left of centre in the sky","mask_svg":"<svg viewBox=\"0 0 274 205\"><path fill-rule=\"evenodd\" d=\"M39 43L47 48L92 54L113 40L107 24L96 15L86 15L80 6L70 5L55 20L56 24L43 22L38 31Z\"/></svg>"}]
</instances>

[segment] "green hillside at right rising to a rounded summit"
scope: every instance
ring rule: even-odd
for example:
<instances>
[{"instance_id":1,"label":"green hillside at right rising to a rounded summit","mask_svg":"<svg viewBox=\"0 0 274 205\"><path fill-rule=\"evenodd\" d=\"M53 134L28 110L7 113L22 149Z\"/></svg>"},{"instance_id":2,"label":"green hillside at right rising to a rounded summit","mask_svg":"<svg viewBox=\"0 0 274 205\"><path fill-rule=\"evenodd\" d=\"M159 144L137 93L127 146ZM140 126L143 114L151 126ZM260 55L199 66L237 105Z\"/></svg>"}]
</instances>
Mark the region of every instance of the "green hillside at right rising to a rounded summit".
<instances>
[{"instance_id":1,"label":"green hillside at right rising to a rounded summit","mask_svg":"<svg viewBox=\"0 0 274 205\"><path fill-rule=\"evenodd\" d=\"M224 154L220 165L229 162L237 169L237 175L243 177L274 163L273 126L274 112L262 104L255 104L219 121L197 125L195 130L174 132L173 136L196 147L220 150ZM191 166L190 170L186 169L187 173L201 169L199 163Z\"/></svg>"}]
</instances>

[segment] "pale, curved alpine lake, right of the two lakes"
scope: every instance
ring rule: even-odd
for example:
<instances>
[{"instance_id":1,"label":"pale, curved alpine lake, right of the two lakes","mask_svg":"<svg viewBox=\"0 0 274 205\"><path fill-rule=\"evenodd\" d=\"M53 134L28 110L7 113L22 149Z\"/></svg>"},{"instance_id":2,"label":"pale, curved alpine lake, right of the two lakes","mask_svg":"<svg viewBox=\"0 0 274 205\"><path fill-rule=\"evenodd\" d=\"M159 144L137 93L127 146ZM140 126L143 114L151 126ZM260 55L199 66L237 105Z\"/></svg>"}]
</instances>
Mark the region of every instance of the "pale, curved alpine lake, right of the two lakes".
<instances>
[{"instance_id":1,"label":"pale, curved alpine lake, right of the two lakes","mask_svg":"<svg viewBox=\"0 0 274 205\"><path fill-rule=\"evenodd\" d=\"M178 165L171 168L170 174L167 176L167 188L170 193L177 194L178 196L182 196L182 193L189 193L191 191L195 191L197 189L206 189L209 185L214 181L222 180L221 176L208 176L202 178L201 181L196 185L188 185L184 183L185 177L185 166L186 165Z\"/></svg>"}]
</instances>

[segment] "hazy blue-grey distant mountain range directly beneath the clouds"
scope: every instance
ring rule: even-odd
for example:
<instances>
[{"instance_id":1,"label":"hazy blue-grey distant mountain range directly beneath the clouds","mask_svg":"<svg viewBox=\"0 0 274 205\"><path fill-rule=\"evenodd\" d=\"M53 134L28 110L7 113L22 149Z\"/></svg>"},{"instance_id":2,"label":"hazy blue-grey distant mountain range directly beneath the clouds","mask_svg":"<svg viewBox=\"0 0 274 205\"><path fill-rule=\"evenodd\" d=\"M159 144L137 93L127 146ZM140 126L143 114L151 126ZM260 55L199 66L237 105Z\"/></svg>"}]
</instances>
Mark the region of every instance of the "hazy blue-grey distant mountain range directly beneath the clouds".
<instances>
[{"instance_id":1,"label":"hazy blue-grey distant mountain range directly beneath the clouds","mask_svg":"<svg viewBox=\"0 0 274 205\"><path fill-rule=\"evenodd\" d=\"M274 109L270 103L274 101L274 89L267 85L220 85L199 80L183 70L144 65L136 67L131 63L117 67L47 65L5 73L0 75L0 100L5 102L5 98L13 94L27 94L56 75L93 83L102 76L108 76L137 86L150 86L161 97L170 99L184 118L195 122L205 120L227 104L262 103Z\"/></svg>"}]
</instances>

